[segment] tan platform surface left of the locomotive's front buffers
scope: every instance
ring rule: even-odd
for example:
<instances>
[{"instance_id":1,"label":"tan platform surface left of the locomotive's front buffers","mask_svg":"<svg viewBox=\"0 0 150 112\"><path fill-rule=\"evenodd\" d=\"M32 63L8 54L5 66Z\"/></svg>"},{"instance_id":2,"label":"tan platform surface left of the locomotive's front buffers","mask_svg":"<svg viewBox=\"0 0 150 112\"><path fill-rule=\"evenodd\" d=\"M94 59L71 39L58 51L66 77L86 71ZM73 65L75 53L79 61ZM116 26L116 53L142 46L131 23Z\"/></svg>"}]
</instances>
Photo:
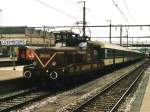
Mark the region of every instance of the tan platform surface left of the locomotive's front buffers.
<instances>
[{"instance_id":1,"label":"tan platform surface left of the locomotive's front buffers","mask_svg":"<svg viewBox=\"0 0 150 112\"><path fill-rule=\"evenodd\" d=\"M0 81L21 78L23 77L22 74L23 66L0 67Z\"/></svg>"}]
</instances>

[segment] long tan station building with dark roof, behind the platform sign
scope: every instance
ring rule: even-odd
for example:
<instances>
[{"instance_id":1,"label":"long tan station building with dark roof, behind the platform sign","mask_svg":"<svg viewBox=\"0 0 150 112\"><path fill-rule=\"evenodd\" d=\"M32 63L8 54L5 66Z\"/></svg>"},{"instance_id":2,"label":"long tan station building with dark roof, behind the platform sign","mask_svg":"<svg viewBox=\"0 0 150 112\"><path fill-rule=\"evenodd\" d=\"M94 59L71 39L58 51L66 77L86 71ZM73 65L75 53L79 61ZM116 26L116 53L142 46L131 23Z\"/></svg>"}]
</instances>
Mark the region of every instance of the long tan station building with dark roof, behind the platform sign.
<instances>
[{"instance_id":1,"label":"long tan station building with dark roof, behind the platform sign","mask_svg":"<svg viewBox=\"0 0 150 112\"><path fill-rule=\"evenodd\" d=\"M15 54L19 46L54 46L52 32L42 28L0 27L0 56Z\"/></svg>"}]
</instances>

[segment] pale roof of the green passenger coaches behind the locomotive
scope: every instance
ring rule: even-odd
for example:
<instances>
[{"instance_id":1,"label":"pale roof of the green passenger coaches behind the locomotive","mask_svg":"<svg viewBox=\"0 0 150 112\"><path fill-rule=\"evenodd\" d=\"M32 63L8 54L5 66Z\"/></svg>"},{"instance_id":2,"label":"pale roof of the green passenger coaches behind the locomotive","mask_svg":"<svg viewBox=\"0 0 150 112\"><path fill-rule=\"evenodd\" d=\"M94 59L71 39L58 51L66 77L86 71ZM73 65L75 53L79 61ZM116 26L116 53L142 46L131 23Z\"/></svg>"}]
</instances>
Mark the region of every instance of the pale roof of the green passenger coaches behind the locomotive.
<instances>
[{"instance_id":1,"label":"pale roof of the green passenger coaches behind the locomotive","mask_svg":"<svg viewBox=\"0 0 150 112\"><path fill-rule=\"evenodd\" d=\"M116 49L116 50L122 50L122 51L141 53L140 51L137 51L137 50L132 50L126 47L116 45L116 44L110 44L110 43L105 43L101 41L89 41L88 43L99 46L100 48L110 48L110 49Z\"/></svg>"}]
</instances>

